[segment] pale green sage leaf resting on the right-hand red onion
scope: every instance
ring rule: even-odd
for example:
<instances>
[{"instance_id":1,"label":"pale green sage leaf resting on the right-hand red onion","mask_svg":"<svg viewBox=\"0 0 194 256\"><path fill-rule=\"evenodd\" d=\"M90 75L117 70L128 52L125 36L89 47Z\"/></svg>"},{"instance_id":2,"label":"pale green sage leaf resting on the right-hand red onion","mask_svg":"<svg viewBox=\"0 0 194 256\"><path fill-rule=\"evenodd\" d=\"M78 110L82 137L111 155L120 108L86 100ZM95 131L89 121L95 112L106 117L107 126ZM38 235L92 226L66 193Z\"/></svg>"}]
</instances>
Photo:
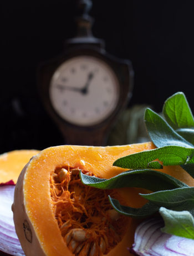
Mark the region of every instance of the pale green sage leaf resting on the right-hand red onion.
<instances>
[{"instance_id":1,"label":"pale green sage leaf resting on the right-hand red onion","mask_svg":"<svg viewBox=\"0 0 194 256\"><path fill-rule=\"evenodd\" d=\"M159 213L165 221L162 232L194 239L194 218L188 211L173 211L161 207Z\"/></svg>"}]
</instances>

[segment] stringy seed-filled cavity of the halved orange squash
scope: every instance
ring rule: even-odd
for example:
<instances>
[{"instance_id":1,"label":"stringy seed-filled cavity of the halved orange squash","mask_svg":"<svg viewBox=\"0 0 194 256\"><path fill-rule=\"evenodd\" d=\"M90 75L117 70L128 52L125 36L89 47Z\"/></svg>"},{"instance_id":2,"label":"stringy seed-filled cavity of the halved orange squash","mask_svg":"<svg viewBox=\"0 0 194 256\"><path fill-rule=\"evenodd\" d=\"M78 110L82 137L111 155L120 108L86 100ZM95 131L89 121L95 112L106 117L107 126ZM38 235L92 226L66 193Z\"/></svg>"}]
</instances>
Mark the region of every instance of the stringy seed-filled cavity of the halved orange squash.
<instances>
[{"instance_id":1,"label":"stringy seed-filled cavity of the halved orange squash","mask_svg":"<svg viewBox=\"0 0 194 256\"><path fill-rule=\"evenodd\" d=\"M72 253L79 256L107 254L124 237L129 220L109 203L108 195L120 200L115 190L85 186L81 183L79 171L63 166L50 175L55 218ZM81 171L93 175L91 171Z\"/></svg>"}]
</instances>

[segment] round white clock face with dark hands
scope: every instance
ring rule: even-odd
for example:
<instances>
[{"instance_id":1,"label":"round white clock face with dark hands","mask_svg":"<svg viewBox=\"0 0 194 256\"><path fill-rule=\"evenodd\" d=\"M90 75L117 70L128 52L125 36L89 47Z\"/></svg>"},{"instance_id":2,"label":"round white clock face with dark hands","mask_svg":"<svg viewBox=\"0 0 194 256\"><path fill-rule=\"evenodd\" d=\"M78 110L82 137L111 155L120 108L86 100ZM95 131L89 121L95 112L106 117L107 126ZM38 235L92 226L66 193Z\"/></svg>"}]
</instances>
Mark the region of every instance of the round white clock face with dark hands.
<instances>
[{"instance_id":1,"label":"round white clock face with dark hands","mask_svg":"<svg viewBox=\"0 0 194 256\"><path fill-rule=\"evenodd\" d=\"M78 56L54 72L49 94L55 111L63 119L75 125L95 125L115 110L119 81L104 61Z\"/></svg>"}]
</instances>

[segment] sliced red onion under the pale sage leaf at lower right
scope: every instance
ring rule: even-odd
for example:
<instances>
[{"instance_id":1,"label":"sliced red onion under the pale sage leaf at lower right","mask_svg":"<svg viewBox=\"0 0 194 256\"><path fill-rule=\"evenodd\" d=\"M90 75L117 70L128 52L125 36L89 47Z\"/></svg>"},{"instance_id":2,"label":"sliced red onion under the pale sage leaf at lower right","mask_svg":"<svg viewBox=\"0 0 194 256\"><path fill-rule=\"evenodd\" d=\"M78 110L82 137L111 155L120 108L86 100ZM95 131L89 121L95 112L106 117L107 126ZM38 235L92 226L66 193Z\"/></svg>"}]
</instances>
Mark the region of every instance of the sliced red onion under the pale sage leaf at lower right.
<instances>
[{"instance_id":1,"label":"sliced red onion under the pale sage leaf at lower right","mask_svg":"<svg viewBox=\"0 0 194 256\"><path fill-rule=\"evenodd\" d=\"M164 221L149 219L135 231L131 253L139 256L194 256L194 240L161 232Z\"/></svg>"}]
</instances>

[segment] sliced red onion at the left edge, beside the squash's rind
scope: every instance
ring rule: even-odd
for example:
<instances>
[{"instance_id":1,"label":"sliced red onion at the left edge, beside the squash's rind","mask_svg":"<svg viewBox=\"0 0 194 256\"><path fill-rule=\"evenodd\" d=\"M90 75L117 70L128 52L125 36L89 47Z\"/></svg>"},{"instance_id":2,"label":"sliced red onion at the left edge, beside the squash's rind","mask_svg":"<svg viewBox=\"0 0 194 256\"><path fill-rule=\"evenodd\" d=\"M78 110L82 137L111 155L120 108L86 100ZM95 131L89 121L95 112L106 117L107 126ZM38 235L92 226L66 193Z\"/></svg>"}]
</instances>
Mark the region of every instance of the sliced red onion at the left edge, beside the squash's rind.
<instances>
[{"instance_id":1,"label":"sliced red onion at the left edge, beside the squash's rind","mask_svg":"<svg viewBox=\"0 0 194 256\"><path fill-rule=\"evenodd\" d=\"M0 251L22 256L25 255L19 243L13 223L12 203L15 186L0 186Z\"/></svg>"}]
</instances>

